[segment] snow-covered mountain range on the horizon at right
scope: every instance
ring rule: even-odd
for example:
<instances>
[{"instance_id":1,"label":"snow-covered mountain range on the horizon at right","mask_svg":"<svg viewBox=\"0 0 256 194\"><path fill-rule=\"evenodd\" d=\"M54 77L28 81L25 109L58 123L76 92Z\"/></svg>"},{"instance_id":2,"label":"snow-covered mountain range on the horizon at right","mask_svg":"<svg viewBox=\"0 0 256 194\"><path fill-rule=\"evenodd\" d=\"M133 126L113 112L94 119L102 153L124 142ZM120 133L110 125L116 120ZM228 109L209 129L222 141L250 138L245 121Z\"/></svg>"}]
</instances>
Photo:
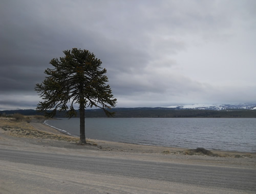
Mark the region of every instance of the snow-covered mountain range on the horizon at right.
<instances>
[{"instance_id":1,"label":"snow-covered mountain range on the horizon at right","mask_svg":"<svg viewBox=\"0 0 256 194\"><path fill-rule=\"evenodd\" d=\"M227 109L250 109L256 110L256 103L246 104L193 104L193 105L174 105L163 108L175 109L197 109L197 110L227 110Z\"/></svg>"}]
</instances>

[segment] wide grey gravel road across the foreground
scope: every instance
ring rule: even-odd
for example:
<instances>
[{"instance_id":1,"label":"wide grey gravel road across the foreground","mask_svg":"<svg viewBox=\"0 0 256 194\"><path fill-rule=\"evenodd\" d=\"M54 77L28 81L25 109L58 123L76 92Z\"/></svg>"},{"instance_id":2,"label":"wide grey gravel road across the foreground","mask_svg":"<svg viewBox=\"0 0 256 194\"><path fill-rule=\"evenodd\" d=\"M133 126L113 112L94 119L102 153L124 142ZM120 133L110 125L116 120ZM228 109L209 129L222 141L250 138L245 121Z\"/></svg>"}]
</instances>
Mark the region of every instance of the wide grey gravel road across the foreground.
<instances>
[{"instance_id":1,"label":"wide grey gravel road across the foreground","mask_svg":"<svg viewBox=\"0 0 256 194\"><path fill-rule=\"evenodd\" d=\"M256 169L0 149L1 193L253 193ZM19 185L13 190L11 185ZM18 191L18 192L17 192Z\"/></svg>"}]
</instances>

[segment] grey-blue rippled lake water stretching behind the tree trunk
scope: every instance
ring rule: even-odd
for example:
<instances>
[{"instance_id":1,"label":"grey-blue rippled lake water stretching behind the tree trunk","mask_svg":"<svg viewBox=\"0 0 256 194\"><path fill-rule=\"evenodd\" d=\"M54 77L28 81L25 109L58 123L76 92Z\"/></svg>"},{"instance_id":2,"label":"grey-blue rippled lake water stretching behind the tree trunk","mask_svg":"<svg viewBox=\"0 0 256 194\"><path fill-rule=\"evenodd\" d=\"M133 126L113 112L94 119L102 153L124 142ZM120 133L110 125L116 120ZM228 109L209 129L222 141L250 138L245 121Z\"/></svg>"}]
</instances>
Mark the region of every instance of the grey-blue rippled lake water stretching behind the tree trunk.
<instances>
[{"instance_id":1,"label":"grey-blue rippled lake water stretching behind the tree trunk","mask_svg":"<svg viewBox=\"0 0 256 194\"><path fill-rule=\"evenodd\" d=\"M79 136L79 118L46 124ZM86 137L165 147L256 152L256 118L86 118Z\"/></svg>"}]
</instances>

